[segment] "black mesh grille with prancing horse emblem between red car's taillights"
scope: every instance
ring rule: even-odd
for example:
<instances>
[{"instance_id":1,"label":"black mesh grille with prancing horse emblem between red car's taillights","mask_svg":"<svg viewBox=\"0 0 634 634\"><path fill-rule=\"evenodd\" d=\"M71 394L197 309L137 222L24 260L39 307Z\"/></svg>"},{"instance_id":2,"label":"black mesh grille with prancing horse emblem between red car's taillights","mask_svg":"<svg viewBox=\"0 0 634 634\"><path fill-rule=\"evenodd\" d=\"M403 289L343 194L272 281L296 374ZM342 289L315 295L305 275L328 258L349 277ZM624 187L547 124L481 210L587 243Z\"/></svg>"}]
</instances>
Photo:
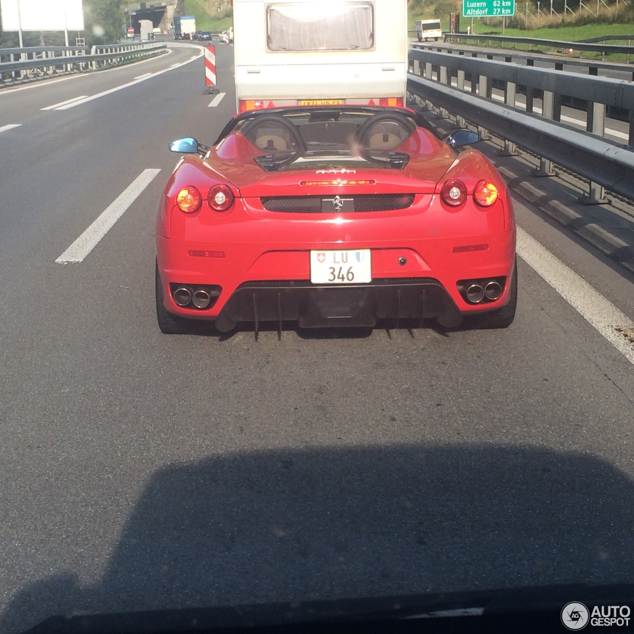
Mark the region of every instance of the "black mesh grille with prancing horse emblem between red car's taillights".
<instances>
[{"instance_id":1,"label":"black mesh grille with prancing horse emblem between red car's taillights","mask_svg":"<svg viewBox=\"0 0 634 634\"><path fill-rule=\"evenodd\" d=\"M269 196L262 197L262 207L268 211L294 214L321 214L336 212L332 204L334 196ZM342 195L342 199L352 200L354 211L387 211L406 209L414 202L415 194L356 194ZM349 210L349 209L347 209Z\"/></svg>"}]
</instances>

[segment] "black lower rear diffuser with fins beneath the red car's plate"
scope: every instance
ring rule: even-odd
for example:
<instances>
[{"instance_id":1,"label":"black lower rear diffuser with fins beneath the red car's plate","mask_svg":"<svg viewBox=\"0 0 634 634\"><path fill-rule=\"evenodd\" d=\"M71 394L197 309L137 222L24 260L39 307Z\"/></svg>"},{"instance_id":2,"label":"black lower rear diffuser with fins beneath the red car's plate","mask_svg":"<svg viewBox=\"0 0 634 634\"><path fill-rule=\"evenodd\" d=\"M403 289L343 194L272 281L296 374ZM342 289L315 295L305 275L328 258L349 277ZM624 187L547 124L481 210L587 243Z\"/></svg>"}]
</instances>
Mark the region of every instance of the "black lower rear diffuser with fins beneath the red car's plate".
<instances>
[{"instance_id":1,"label":"black lower rear diffuser with fins beneath the red car's plate","mask_svg":"<svg viewBox=\"0 0 634 634\"><path fill-rule=\"evenodd\" d=\"M370 284L314 285L306 280L251 281L238 287L216 318L228 332L238 323L296 321L301 328L373 327L378 320L436 318L460 325L462 314L432 278L374 280Z\"/></svg>"}]
</instances>

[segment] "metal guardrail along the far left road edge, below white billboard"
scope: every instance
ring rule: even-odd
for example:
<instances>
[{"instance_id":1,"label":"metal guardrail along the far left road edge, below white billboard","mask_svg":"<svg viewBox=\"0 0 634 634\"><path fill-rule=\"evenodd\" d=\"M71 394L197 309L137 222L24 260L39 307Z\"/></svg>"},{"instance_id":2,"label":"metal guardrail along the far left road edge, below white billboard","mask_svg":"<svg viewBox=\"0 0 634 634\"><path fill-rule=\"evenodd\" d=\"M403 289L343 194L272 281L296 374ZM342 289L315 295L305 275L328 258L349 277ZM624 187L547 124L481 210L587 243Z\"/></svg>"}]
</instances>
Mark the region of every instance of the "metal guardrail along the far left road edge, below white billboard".
<instances>
[{"instance_id":1,"label":"metal guardrail along the far left road edge, below white billboard","mask_svg":"<svg viewBox=\"0 0 634 634\"><path fill-rule=\"evenodd\" d=\"M93 46L92 50L74 46L0 49L0 60L7 56L10 58L10 61L0 61L0 86L6 75L15 80L21 79L22 72L27 70L42 70L48 74L55 74L58 70L97 70L103 65L156 55L166 46L162 42L136 42Z\"/></svg>"}]
</instances>

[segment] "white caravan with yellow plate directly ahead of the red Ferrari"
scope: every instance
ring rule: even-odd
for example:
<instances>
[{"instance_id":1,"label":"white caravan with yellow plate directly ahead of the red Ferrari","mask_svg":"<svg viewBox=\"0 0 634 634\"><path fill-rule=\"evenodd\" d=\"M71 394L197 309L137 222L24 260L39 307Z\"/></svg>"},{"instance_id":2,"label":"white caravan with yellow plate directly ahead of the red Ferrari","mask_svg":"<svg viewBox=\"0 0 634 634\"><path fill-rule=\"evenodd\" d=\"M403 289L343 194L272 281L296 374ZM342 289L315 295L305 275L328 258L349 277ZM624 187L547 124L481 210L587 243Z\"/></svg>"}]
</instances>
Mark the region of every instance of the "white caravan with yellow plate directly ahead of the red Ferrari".
<instances>
[{"instance_id":1,"label":"white caravan with yellow plate directly ahead of the red Ferrari","mask_svg":"<svg viewBox=\"0 0 634 634\"><path fill-rule=\"evenodd\" d=\"M407 0L233 0L238 112L403 107Z\"/></svg>"}]
</instances>

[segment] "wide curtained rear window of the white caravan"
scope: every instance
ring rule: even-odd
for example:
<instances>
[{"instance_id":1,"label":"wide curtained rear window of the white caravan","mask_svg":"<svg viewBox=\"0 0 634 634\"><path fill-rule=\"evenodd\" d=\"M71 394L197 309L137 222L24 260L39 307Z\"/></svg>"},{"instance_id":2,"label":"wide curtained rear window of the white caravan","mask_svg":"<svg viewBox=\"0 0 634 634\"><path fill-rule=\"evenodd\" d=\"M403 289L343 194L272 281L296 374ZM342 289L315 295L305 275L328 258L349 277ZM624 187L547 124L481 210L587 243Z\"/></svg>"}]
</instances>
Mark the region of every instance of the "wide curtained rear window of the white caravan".
<instances>
[{"instance_id":1,"label":"wide curtained rear window of the white caravan","mask_svg":"<svg viewBox=\"0 0 634 634\"><path fill-rule=\"evenodd\" d=\"M374 47L370 2L302 2L266 8L270 51L354 51Z\"/></svg>"}]
</instances>

